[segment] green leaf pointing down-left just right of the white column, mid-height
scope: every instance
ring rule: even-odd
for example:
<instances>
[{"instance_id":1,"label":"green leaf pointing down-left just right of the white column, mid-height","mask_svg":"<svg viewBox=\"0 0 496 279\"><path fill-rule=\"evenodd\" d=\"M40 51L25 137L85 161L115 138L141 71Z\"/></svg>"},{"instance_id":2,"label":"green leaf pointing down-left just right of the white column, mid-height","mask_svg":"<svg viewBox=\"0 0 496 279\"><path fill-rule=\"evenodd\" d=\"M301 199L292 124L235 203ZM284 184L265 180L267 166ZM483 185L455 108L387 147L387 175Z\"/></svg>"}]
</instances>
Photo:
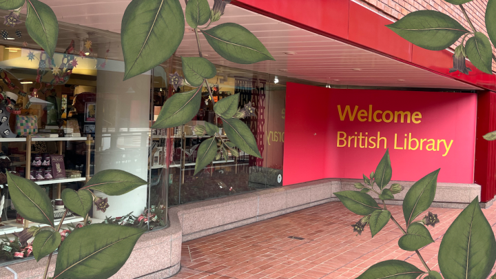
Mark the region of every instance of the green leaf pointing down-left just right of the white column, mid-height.
<instances>
[{"instance_id":1,"label":"green leaf pointing down-left just right of the white column, mid-height","mask_svg":"<svg viewBox=\"0 0 496 279\"><path fill-rule=\"evenodd\" d=\"M194 90L172 95L162 107L152 129L177 127L192 120L200 110L201 89L202 87L196 87Z\"/></svg>"}]
</instances>

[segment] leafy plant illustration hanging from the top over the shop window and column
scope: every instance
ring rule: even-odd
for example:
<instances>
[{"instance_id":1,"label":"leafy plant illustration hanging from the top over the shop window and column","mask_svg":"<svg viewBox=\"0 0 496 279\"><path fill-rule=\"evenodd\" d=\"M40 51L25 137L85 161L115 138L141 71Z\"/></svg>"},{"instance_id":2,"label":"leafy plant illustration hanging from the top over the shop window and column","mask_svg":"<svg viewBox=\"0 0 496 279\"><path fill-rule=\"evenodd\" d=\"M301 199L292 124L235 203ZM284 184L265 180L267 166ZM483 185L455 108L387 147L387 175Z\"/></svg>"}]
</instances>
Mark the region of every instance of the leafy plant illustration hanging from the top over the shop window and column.
<instances>
[{"instance_id":1,"label":"leafy plant illustration hanging from the top over the shop window and column","mask_svg":"<svg viewBox=\"0 0 496 279\"><path fill-rule=\"evenodd\" d=\"M211 48L231 62L252 64L274 60L254 34L241 25L222 23L209 28L211 23L222 17L229 0L215 0L212 8L207 0L185 0L185 3L186 10L183 14L179 0L133 0L124 13L121 26L124 80L147 72L169 59L183 40L185 19L194 30L198 43L199 57L181 57L185 80L196 88L189 92L176 93L167 99L152 129L176 127L190 121L200 109L203 86L207 87L209 92L207 102L214 100L207 79L216 76L216 68L203 57L199 33L203 34ZM203 25L205 27L200 27ZM182 79L178 74L174 74L171 76L171 83L177 88L183 83ZM214 111L223 122L229 142L220 138L219 129L214 124L206 123L205 126L195 127L198 134L213 136L198 147L195 174L215 158L224 157L227 161L228 151L238 156L236 147L246 154L261 158L254 135L240 120L254 115L251 104L240 108L239 94L234 94L218 101L214 105Z\"/></svg>"}]
</instances>

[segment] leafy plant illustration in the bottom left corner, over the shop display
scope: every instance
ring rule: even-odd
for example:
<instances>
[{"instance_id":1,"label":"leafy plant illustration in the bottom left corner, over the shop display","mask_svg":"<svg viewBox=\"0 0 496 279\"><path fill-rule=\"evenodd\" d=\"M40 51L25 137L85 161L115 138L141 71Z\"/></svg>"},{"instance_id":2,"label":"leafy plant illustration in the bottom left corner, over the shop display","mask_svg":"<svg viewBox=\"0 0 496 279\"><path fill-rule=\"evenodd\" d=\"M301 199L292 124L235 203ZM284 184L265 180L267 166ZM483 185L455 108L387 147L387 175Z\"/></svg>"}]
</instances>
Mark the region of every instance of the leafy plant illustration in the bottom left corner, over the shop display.
<instances>
[{"instance_id":1,"label":"leafy plant illustration in the bottom left corner, over the shop display","mask_svg":"<svg viewBox=\"0 0 496 279\"><path fill-rule=\"evenodd\" d=\"M43 279L48 276L52 254L58 249L55 265L55 278L109 278L125 264L136 241L144 229L110 223L87 225L87 214L96 205L97 210L105 211L109 206L106 199L95 196L97 190L109 196L120 196L146 185L138 176L116 169L108 169L95 174L78 191L64 189L62 200L67 207L59 225L54 223L54 210L48 195L32 180L7 173L10 197L17 212L32 222L45 224L43 227L30 227L19 235L25 242L34 236L32 253L39 261L48 256ZM72 231L61 226L68 211L85 216L85 225L76 226ZM108 260L112 255L112 260Z\"/></svg>"}]
</instances>

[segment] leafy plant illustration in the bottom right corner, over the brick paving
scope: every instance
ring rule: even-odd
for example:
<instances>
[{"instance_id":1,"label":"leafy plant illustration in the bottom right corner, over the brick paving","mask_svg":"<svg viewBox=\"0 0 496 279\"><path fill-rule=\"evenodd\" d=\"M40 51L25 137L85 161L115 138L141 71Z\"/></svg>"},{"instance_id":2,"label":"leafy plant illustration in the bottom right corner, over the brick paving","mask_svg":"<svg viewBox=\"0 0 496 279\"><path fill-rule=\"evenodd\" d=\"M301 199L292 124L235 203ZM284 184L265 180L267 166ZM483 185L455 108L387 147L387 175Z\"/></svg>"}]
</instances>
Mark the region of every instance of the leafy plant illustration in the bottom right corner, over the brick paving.
<instances>
[{"instance_id":1,"label":"leafy plant illustration in the bottom right corner, over the brick paving","mask_svg":"<svg viewBox=\"0 0 496 279\"><path fill-rule=\"evenodd\" d=\"M402 227L388 211L384 200L394 198L404 187L391 181L393 169L389 150L382 157L375 172L363 176L364 184L355 183L360 191L342 191L334 193L343 205L355 214L363 216L352 225L353 231L362 234L365 227L370 227L374 237L391 220L402 231L398 246L405 251L415 251L423 267L402 260L386 260L369 267L358 279L379 278L424 278L424 279L485 279L489 276L496 262L496 240L493 229L482 213L478 198L455 219L442 238L438 253L441 273L431 270L420 253L420 249L434 242L428 226L440 223L437 214L428 212L422 217L434 200L437 187L437 174L440 169L427 174L411 186L403 201L403 214L406 227ZM378 194L379 205L369 194ZM425 277L424 277L425 276Z\"/></svg>"}]
</instances>

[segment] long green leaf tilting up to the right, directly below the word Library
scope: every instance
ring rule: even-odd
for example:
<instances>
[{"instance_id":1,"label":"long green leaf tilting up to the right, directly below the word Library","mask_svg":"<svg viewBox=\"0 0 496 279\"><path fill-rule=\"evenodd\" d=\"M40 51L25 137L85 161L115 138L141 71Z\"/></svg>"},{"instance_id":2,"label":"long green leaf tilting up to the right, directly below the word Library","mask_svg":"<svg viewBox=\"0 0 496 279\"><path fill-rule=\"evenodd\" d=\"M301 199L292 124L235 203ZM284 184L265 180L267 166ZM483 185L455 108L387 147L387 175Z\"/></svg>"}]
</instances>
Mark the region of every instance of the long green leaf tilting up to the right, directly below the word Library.
<instances>
[{"instance_id":1,"label":"long green leaf tilting up to the right, directly below the word Library","mask_svg":"<svg viewBox=\"0 0 496 279\"><path fill-rule=\"evenodd\" d=\"M403 215L408 227L413 220L426 211L434 200L437 186L437 174L440 169L427 174L409 189L403 200Z\"/></svg>"}]
</instances>

